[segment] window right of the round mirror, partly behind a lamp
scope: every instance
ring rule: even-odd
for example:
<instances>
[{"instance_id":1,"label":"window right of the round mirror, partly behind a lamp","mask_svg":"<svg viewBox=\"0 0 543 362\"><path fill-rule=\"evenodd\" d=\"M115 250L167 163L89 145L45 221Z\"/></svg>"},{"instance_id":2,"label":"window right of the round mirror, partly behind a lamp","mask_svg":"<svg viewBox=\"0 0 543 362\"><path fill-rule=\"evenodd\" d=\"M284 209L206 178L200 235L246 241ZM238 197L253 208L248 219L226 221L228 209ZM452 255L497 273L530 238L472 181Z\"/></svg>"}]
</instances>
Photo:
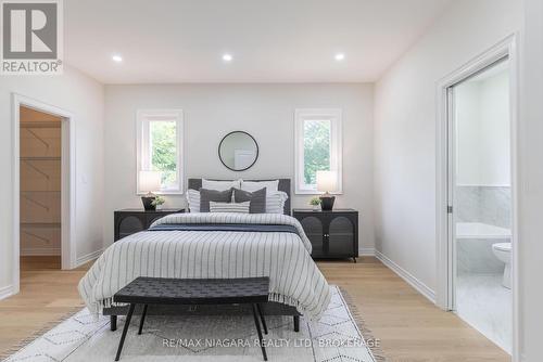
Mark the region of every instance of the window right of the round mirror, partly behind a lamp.
<instances>
[{"instance_id":1,"label":"window right of the round mirror, partly behind a lamp","mask_svg":"<svg viewBox=\"0 0 543 362\"><path fill-rule=\"evenodd\" d=\"M317 194L317 171L336 171L341 180L341 109L296 109L295 193Z\"/></svg>"}]
</instances>

